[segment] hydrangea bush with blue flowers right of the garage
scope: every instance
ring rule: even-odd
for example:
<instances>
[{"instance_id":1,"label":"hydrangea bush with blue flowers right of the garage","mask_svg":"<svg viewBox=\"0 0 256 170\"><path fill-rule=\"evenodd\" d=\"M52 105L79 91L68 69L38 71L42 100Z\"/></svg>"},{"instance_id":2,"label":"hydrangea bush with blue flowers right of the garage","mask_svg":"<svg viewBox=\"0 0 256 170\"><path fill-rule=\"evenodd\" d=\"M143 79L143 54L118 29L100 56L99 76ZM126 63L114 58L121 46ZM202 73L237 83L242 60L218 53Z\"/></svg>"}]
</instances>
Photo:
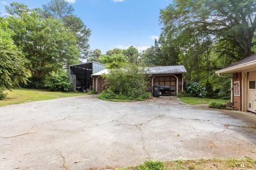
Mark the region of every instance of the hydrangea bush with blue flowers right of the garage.
<instances>
[{"instance_id":1,"label":"hydrangea bush with blue flowers right of the garage","mask_svg":"<svg viewBox=\"0 0 256 170\"><path fill-rule=\"evenodd\" d=\"M189 96L193 97L205 97L207 94L205 87L197 82L189 82L187 84L186 92Z\"/></svg>"}]
</instances>

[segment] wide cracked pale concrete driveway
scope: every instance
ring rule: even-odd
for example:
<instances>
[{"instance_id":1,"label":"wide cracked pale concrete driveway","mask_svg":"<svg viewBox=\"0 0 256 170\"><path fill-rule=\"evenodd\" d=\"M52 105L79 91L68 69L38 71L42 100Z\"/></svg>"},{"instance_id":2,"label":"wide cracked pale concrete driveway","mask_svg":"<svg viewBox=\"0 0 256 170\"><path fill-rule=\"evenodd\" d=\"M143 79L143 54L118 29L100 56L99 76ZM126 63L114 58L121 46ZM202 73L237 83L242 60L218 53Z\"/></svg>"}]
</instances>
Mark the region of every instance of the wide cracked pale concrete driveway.
<instances>
[{"instance_id":1,"label":"wide cracked pale concrete driveway","mask_svg":"<svg viewBox=\"0 0 256 170\"><path fill-rule=\"evenodd\" d=\"M151 160L256 158L256 115L175 97L92 96L0 107L0 169L105 169Z\"/></svg>"}]
</instances>

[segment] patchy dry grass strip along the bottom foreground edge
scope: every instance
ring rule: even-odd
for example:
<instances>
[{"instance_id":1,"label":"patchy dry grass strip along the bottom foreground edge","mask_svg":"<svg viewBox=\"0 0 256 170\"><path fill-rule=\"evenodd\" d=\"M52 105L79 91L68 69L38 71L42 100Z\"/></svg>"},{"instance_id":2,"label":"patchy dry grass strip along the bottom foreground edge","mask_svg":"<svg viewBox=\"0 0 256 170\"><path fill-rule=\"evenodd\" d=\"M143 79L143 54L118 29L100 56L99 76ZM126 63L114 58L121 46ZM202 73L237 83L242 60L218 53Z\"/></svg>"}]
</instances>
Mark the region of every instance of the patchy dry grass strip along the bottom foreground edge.
<instances>
[{"instance_id":1,"label":"patchy dry grass strip along the bottom foreground edge","mask_svg":"<svg viewBox=\"0 0 256 170\"><path fill-rule=\"evenodd\" d=\"M256 169L256 162L251 158L246 159L199 159L199 160L177 160L171 162L146 161L144 164L127 168L116 168L115 170L187 170L187 169Z\"/></svg>"}]
</instances>

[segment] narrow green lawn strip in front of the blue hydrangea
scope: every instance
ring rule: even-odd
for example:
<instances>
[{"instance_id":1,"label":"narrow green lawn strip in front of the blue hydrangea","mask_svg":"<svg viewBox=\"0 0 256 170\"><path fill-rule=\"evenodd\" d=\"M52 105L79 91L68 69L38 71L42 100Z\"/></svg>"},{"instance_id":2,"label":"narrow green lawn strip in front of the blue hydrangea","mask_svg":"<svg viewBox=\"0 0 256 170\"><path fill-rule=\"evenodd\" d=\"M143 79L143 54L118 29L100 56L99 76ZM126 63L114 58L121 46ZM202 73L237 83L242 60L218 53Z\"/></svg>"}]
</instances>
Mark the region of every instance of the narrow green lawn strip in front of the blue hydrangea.
<instances>
[{"instance_id":1,"label":"narrow green lawn strip in front of the blue hydrangea","mask_svg":"<svg viewBox=\"0 0 256 170\"><path fill-rule=\"evenodd\" d=\"M197 105L197 104L210 104L212 101L218 101L220 103L226 104L230 100L198 98L198 97L180 97L180 101L190 104L190 105Z\"/></svg>"}]
</instances>

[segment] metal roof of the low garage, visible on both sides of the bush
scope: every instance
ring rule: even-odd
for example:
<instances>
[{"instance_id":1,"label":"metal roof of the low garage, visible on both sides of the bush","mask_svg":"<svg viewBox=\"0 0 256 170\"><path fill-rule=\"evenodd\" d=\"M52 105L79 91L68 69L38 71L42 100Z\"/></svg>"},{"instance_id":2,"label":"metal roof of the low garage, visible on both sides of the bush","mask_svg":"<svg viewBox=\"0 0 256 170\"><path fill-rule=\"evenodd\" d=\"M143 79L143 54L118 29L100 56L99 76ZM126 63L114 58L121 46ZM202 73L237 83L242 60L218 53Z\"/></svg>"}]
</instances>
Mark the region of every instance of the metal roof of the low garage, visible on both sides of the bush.
<instances>
[{"instance_id":1,"label":"metal roof of the low garage, visible on both sides of the bush","mask_svg":"<svg viewBox=\"0 0 256 170\"><path fill-rule=\"evenodd\" d=\"M183 73L187 73L187 71L183 65L146 67L145 70L148 74L183 74ZM109 70L105 69L98 73L92 74L92 76L108 74L108 72L109 72Z\"/></svg>"}]
</instances>

